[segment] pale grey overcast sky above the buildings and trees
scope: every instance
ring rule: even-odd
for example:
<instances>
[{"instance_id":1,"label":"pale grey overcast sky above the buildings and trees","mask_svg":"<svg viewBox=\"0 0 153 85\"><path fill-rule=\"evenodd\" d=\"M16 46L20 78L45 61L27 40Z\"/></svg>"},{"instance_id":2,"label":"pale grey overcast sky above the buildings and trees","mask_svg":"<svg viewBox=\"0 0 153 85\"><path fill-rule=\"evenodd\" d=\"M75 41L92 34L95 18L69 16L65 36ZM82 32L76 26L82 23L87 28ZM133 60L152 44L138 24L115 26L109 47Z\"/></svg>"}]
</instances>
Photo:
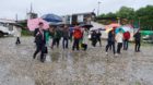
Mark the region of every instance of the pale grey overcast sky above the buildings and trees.
<instances>
[{"instance_id":1,"label":"pale grey overcast sky above the buildings and trees","mask_svg":"<svg viewBox=\"0 0 153 85\"><path fill-rule=\"evenodd\" d=\"M101 13L116 12L126 5L136 10L148 4L153 5L153 0L0 0L0 19L25 19L33 3L34 12L39 16L46 13L66 15L72 13L92 12L97 13L101 1Z\"/></svg>"}]
</instances>

